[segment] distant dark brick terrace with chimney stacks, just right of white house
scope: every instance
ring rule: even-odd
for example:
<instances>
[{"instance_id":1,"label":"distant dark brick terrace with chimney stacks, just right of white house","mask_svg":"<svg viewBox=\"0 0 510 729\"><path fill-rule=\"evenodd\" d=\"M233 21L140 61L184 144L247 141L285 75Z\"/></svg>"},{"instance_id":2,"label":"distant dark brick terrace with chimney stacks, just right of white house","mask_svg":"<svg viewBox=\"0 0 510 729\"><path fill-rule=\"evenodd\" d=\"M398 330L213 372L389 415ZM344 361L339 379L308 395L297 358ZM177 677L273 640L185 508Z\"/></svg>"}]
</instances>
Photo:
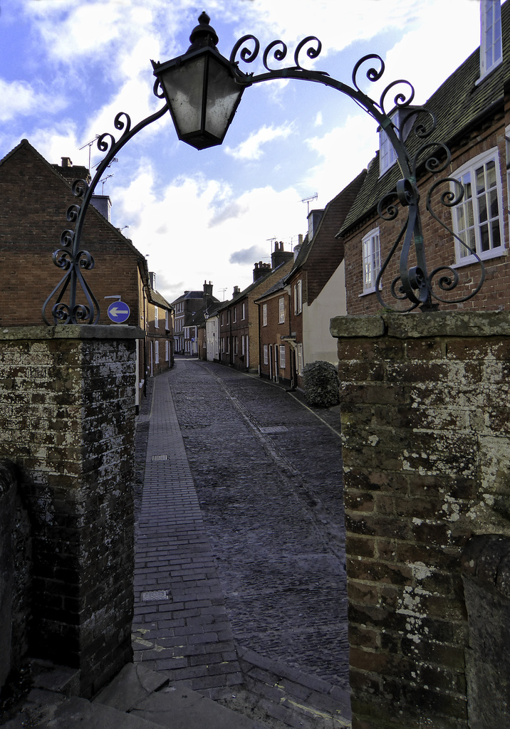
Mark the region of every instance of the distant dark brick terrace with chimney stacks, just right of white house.
<instances>
[{"instance_id":1,"label":"distant dark brick terrace with chimney stacks, just right of white house","mask_svg":"<svg viewBox=\"0 0 510 729\"><path fill-rule=\"evenodd\" d=\"M220 362L258 373L260 328L255 299L290 270L292 261L292 252L285 251L281 241L275 243L271 264L255 263L252 284L242 291L236 286L231 300L218 307Z\"/></svg>"}]
</instances>

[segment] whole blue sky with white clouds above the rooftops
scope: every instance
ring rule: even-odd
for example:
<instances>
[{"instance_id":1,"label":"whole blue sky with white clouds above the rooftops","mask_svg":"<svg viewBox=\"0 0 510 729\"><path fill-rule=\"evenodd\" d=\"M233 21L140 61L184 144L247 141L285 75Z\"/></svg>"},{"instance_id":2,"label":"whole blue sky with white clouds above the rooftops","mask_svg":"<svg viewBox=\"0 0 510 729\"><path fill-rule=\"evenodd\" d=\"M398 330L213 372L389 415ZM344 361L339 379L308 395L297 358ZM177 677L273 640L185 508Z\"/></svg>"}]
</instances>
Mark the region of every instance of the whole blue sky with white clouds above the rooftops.
<instances>
[{"instance_id":1,"label":"whole blue sky with white clouds above the rooftops","mask_svg":"<svg viewBox=\"0 0 510 729\"><path fill-rule=\"evenodd\" d=\"M298 42L317 36L322 52L304 66L352 85L358 59L378 53L385 83L363 90L379 98L406 79L417 104L480 38L479 0L0 0L0 159L28 139L50 163L89 166L90 155L98 165L104 153L89 143L118 135L117 112L134 126L163 106L150 59L182 55L203 10L227 58L253 34L262 50L284 41L287 63L272 66L290 66ZM262 73L261 55L240 68ZM293 250L308 209L324 208L378 145L376 122L346 95L271 80L245 90L221 147L179 141L164 114L123 147L96 192L110 196L113 225L147 256L167 300L204 281L228 300L252 282L255 262L269 262L274 241ZM68 227L65 211L62 220Z\"/></svg>"}]
</instances>

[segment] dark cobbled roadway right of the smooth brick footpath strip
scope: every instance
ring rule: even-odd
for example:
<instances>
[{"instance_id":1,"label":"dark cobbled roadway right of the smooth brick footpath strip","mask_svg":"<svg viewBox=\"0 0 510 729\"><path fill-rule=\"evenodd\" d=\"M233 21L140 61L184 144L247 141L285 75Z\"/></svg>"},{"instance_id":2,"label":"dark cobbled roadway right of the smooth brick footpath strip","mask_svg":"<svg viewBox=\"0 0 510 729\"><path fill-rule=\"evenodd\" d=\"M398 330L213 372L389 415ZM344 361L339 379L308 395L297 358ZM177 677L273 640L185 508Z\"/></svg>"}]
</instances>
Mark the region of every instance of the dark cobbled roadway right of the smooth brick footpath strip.
<instances>
[{"instance_id":1,"label":"dark cobbled roadway right of the smooth brick footpath strip","mask_svg":"<svg viewBox=\"0 0 510 729\"><path fill-rule=\"evenodd\" d=\"M338 408L196 359L168 377L234 639L347 687Z\"/></svg>"}]
</instances>

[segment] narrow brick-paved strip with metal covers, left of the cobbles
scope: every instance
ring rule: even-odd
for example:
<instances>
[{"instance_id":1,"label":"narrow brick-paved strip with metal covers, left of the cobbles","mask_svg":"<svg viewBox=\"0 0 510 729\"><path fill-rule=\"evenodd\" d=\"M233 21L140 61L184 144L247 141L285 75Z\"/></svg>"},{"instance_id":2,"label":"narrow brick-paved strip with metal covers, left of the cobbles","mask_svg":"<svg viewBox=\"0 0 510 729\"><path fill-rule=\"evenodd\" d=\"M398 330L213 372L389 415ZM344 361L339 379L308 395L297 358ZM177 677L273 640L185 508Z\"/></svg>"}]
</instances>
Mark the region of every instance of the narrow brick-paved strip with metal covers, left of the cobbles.
<instances>
[{"instance_id":1,"label":"narrow brick-paved strip with metal covers, left of the cobbles","mask_svg":"<svg viewBox=\"0 0 510 729\"><path fill-rule=\"evenodd\" d=\"M135 660L171 679L189 679L193 688L242 682L165 376L154 381L136 532Z\"/></svg>"}]
</instances>

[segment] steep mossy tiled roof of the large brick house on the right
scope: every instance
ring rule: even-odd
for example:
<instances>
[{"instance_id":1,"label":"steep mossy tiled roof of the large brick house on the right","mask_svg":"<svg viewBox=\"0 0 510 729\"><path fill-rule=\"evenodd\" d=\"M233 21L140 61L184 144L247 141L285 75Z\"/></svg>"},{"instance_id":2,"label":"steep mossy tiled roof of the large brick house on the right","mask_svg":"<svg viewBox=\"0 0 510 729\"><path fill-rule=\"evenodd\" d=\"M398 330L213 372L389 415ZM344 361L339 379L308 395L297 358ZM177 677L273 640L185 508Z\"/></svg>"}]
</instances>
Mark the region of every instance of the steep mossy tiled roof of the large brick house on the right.
<instances>
[{"instance_id":1,"label":"steep mossy tiled roof of the large brick house on the right","mask_svg":"<svg viewBox=\"0 0 510 729\"><path fill-rule=\"evenodd\" d=\"M501 6L501 27L503 62L487 75L482 83L476 84L480 76L480 49L477 48L424 104L430 112L436 115L438 122L427 141L442 141L451 149L462 139L468 128L481 122L483 117L493 114L499 106L503 109L503 83L510 77L510 2L508 0ZM411 157L420 144L422 142L414 133L410 133L406 146L411 152ZM376 212L379 200L387 192L393 190L401 176L400 168L398 164L395 164L390 171L379 177L379 153L377 153L368 166L366 180L339 235L347 234L364 218L372 217Z\"/></svg>"}]
</instances>

